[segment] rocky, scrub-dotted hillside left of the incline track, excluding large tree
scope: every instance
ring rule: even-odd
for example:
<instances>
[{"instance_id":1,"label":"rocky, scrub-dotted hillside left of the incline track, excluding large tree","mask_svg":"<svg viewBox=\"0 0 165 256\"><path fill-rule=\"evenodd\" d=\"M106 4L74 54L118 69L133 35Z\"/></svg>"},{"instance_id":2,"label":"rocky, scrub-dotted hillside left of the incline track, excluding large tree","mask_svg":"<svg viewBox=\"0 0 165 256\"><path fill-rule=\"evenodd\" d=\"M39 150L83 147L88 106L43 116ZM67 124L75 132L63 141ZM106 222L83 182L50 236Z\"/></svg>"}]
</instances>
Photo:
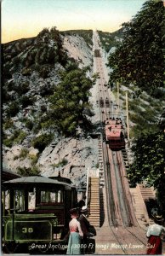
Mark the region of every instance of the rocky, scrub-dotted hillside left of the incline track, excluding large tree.
<instances>
[{"instance_id":1,"label":"rocky, scrub-dotted hillside left of the incline track, excluding large tree","mask_svg":"<svg viewBox=\"0 0 165 256\"><path fill-rule=\"evenodd\" d=\"M3 44L3 165L13 172L48 177L60 171L79 185L87 168L98 166L96 141L89 134L78 129L81 136L64 137L47 119L49 96L71 65L91 70L93 65L92 45L76 33L45 28L36 38Z\"/></svg>"}]
</instances>

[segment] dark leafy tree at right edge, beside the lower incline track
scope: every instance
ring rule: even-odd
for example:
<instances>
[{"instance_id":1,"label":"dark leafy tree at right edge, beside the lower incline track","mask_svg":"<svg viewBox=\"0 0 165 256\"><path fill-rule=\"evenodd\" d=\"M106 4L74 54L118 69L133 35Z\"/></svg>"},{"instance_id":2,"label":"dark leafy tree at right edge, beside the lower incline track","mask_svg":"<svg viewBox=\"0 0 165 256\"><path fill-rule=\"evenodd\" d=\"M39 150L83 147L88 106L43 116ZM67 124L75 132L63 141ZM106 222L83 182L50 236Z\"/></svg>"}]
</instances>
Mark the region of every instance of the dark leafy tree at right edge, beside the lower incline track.
<instances>
[{"instance_id":1,"label":"dark leafy tree at right edge, beside the lower incline track","mask_svg":"<svg viewBox=\"0 0 165 256\"><path fill-rule=\"evenodd\" d=\"M157 190L157 198L165 209L165 134L163 131L142 134L132 147L134 163L128 170L132 185L144 180ZM160 200L161 199L161 200Z\"/></svg>"}]
</instances>

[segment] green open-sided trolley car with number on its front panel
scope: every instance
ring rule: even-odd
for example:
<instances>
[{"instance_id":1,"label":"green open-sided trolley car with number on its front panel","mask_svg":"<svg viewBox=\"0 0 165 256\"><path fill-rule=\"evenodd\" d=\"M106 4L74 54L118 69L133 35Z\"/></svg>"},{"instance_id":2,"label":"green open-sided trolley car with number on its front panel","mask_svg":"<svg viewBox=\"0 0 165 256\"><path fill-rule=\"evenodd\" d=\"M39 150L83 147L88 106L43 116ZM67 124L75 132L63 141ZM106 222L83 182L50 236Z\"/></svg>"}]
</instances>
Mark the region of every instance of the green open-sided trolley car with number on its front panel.
<instances>
[{"instance_id":1,"label":"green open-sided trolley car with number on its front panel","mask_svg":"<svg viewBox=\"0 0 165 256\"><path fill-rule=\"evenodd\" d=\"M34 176L9 180L3 183L2 202L5 252L13 253L20 244L31 248L34 242L64 248L60 245L67 242L69 209L77 204L77 190L67 179Z\"/></svg>"}]
</instances>

